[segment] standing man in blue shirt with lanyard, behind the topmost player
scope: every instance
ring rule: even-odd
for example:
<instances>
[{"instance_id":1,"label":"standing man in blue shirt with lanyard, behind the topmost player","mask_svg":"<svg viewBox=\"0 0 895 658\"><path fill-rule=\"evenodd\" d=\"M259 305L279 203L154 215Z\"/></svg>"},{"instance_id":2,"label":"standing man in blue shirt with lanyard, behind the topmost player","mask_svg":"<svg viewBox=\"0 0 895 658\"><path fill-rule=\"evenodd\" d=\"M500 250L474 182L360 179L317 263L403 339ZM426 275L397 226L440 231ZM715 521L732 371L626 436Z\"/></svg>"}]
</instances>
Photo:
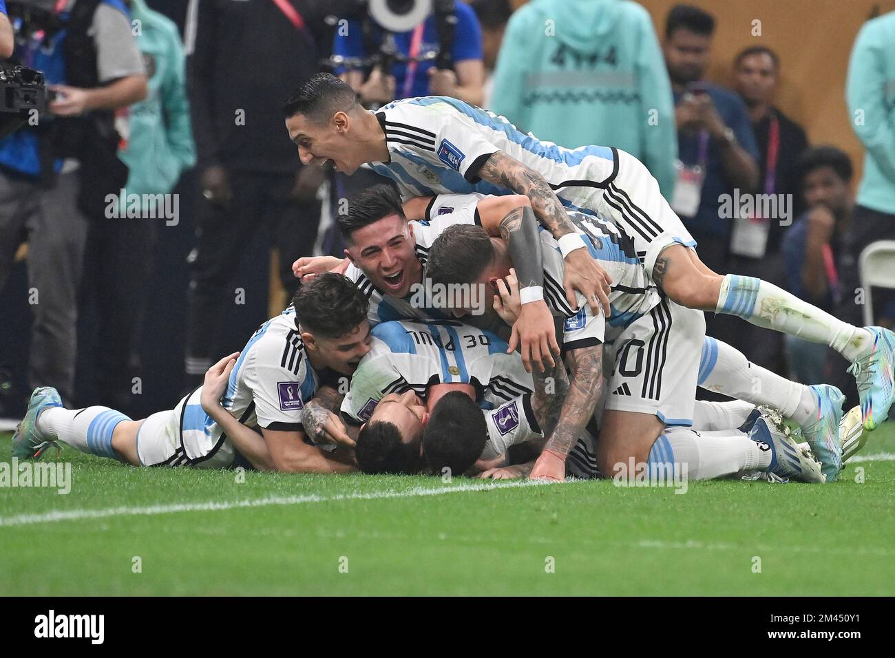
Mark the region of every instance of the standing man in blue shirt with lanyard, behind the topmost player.
<instances>
[{"instance_id":1,"label":"standing man in blue shirt with lanyard, behind the topmost player","mask_svg":"<svg viewBox=\"0 0 895 658\"><path fill-rule=\"evenodd\" d=\"M665 25L681 165L669 201L699 244L703 263L723 273L728 270L730 219L720 217L720 197L735 188L754 191L758 147L743 101L703 81L713 32L712 15L685 4L671 9Z\"/></svg>"}]
</instances>

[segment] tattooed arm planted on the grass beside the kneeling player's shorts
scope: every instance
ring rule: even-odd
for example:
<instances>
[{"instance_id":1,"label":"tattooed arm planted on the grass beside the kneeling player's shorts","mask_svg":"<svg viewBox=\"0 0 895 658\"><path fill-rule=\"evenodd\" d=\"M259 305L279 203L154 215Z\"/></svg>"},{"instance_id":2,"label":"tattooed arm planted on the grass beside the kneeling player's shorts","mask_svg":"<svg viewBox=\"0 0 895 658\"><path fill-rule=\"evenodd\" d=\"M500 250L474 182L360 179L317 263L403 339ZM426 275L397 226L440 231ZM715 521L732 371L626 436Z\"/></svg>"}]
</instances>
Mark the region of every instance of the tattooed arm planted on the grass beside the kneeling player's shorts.
<instances>
[{"instance_id":1,"label":"tattooed arm planted on the grass beside the kneeling player's shorts","mask_svg":"<svg viewBox=\"0 0 895 658\"><path fill-rule=\"evenodd\" d=\"M584 432L584 426L591 419L600 399L603 346L575 349L566 358L571 371L569 389L559 412L557 426L532 470L532 479L565 479L566 457Z\"/></svg>"}]
</instances>

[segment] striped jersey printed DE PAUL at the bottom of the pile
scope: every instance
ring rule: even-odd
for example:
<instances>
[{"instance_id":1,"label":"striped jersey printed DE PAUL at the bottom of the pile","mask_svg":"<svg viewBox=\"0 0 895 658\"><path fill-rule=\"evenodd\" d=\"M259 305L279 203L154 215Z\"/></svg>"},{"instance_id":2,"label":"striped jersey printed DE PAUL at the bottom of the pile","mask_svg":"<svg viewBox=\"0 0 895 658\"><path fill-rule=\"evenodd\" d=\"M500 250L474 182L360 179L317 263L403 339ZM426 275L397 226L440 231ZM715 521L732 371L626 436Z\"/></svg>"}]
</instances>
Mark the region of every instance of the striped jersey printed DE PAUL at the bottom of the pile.
<instances>
[{"instance_id":1,"label":"striped jersey printed DE PAUL at the bottom of the pile","mask_svg":"<svg viewBox=\"0 0 895 658\"><path fill-rule=\"evenodd\" d=\"M363 423L382 397L413 390L425 400L430 386L443 383L476 390L493 441L484 458L541 436L531 406L532 375L522 359L508 355L507 343L487 329L456 320L389 321L373 328L370 353L354 372L342 413Z\"/></svg>"}]
</instances>

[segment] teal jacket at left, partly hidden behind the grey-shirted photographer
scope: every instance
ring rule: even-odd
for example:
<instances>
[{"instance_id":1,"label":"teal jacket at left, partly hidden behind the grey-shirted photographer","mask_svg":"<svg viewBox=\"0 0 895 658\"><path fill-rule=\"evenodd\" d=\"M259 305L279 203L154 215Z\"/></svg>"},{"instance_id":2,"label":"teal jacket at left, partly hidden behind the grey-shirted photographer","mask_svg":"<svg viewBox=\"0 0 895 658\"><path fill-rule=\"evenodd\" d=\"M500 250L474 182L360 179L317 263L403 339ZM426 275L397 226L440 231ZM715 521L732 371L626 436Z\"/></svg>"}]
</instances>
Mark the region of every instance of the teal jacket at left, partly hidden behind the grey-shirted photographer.
<instances>
[{"instance_id":1,"label":"teal jacket at left, partly hidden behind the grey-shirted photographer","mask_svg":"<svg viewBox=\"0 0 895 658\"><path fill-rule=\"evenodd\" d=\"M174 21L144 0L131 0L131 11L149 93L130 107L127 144L118 157L130 168L128 194L166 194L196 163L183 45Z\"/></svg>"}]
</instances>

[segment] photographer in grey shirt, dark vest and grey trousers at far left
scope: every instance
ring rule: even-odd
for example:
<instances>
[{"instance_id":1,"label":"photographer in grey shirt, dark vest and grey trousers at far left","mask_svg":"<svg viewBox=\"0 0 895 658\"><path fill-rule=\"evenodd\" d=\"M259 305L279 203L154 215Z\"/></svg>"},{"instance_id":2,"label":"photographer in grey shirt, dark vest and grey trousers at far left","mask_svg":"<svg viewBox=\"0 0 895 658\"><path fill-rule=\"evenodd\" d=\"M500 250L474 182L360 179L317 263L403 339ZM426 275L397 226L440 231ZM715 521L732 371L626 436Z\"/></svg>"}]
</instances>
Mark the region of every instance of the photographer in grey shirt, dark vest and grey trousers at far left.
<instances>
[{"instance_id":1,"label":"photographer in grey shirt, dark vest and grey trousers at far left","mask_svg":"<svg viewBox=\"0 0 895 658\"><path fill-rule=\"evenodd\" d=\"M46 114L0 141L0 287L29 243L34 312L29 380L71 399L77 291L88 218L124 186L114 110L146 97L146 76L121 0L16 0L15 53L55 94Z\"/></svg>"}]
</instances>

